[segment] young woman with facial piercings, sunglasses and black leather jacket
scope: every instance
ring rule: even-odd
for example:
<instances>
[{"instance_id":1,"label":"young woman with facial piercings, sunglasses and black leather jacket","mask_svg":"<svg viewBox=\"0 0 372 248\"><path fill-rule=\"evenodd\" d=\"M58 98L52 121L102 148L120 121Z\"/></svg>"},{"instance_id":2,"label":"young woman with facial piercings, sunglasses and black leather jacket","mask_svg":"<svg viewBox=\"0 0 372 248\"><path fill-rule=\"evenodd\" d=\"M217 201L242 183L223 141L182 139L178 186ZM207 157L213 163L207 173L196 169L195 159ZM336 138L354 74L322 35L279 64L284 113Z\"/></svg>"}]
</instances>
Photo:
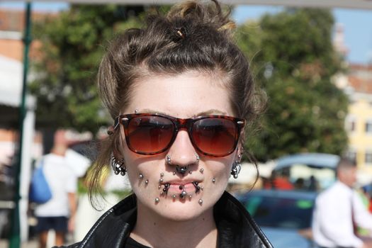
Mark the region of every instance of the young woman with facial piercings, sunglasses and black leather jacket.
<instances>
[{"instance_id":1,"label":"young woman with facial piercings, sunglasses and black leather jacket","mask_svg":"<svg viewBox=\"0 0 372 248\"><path fill-rule=\"evenodd\" d=\"M234 27L216 1L188 1L111 44L98 88L114 124L94 179L111 163L133 195L72 247L271 247L225 192L261 107Z\"/></svg>"}]
</instances>

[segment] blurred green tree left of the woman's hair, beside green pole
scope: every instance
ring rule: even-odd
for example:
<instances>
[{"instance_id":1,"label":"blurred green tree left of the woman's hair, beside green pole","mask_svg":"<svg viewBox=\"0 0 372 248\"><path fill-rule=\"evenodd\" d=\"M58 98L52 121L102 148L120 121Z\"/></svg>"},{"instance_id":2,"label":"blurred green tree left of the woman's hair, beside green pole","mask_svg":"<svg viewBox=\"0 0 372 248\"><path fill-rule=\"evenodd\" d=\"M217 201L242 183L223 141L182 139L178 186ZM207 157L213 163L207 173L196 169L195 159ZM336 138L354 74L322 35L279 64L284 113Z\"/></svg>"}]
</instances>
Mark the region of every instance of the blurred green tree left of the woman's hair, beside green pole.
<instances>
[{"instance_id":1,"label":"blurred green tree left of the woman's hair, beside green pole","mask_svg":"<svg viewBox=\"0 0 372 248\"><path fill-rule=\"evenodd\" d=\"M40 42L30 91L38 98L38 128L75 128L96 133L110 118L96 91L96 72L107 40L140 26L143 7L72 6L36 23Z\"/></svg>"}]
</instances>

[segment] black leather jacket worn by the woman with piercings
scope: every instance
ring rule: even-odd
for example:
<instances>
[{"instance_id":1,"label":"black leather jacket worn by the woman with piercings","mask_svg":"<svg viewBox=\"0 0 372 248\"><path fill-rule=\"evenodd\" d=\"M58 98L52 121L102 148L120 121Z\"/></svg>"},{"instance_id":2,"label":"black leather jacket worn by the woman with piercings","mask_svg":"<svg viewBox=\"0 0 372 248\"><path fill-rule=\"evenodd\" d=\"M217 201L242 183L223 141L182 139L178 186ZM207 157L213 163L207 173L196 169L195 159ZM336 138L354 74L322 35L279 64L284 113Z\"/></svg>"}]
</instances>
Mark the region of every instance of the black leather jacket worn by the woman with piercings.
<instances>
[{"instance_id":1,"label":"black leather jacket worn by the woman with piercings","mask_svg":"<svg viewBox=\"0 0 372 248\"><path fill-rule=\"evenodd\" d=\"M244 206L230 193L223 193L214 207L218 248L272 247ZM135 195L128 196L104 213L84 239L69 248L125 247L135 225Z\"/></svg>"}]
</instances>

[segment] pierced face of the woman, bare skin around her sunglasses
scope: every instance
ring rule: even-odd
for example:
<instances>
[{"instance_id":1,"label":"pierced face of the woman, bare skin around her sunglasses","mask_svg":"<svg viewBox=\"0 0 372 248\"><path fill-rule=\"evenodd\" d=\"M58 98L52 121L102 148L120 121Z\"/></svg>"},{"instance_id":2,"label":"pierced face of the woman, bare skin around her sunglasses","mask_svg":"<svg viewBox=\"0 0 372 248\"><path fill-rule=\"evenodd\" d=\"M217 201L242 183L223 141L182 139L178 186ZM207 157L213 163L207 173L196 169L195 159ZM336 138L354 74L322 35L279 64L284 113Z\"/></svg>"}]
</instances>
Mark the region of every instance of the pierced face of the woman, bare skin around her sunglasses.
<instances>
[{"instance_id":1,"label":"pierced face of the woman, bare skin around her sunglasses","mask_svg":"<svg viewBox=\"0 0 372 248\"><path fill-rule=\"evenodd\" d=\"M222 80L224 78L213 77L213 74L193 71L176 76L153 75L136 82L131 102L122 113L163 113L176 118L209 114L233 116ZM170 220L191 220L210 210L225 190L232 163L237 159L235 150L226 157L199 153L197 162L196 150L185 129L179 130L169 150L157 155L129 150L123 126L120 126L120 135L121 152L139 209ZM171 157L170 164L167 155ZM177 172L176 164L180 167L190 164L186 174ZM195 182L201 187L198 192ZM167 183L169 188L165 193ZM182 191L186 191L184 198L180 197Z\"/></svg>"}]
</instances>

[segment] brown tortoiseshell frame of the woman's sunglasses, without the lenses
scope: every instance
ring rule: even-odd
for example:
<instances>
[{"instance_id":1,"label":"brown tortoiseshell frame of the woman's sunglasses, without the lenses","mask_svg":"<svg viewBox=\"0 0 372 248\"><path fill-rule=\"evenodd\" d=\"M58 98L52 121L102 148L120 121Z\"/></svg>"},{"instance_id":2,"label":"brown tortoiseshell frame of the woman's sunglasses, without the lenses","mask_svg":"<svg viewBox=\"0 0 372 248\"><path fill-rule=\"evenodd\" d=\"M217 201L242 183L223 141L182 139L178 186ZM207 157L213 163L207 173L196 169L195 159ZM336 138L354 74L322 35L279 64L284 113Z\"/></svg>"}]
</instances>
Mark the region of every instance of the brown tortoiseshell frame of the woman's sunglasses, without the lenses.
<instances>
[{"instance_id":1,"label":"brown tortoiseshell frame of the woman's sunglasses, without the lenses","mask_svg":"<svg viewBox=\"0 0 372 248\"><path fill-rule=\"evenodd\" d=\"M162 150L159 150L157 152L140 152L138 150L135 150L133 147L131 147L130 140L129 140L129 134L128 134L128 125L130 123L130 120L133 120L133 118L137 118L137 117L141 117L141 116L145 116L145 117L150 117L150 116L162 117L162 118L166 118L167 120L170 120L171 123L173 123L173 125L174 125L174 131L173 131L171 140L169 141L169 144L166 147L164 147ZM216 155L216 154L210 154L208 152L203 152L203 150L201 150L198 147L198 145L196 145L196 142L193 140L193 136L192 136L193 123L195 123L198 120L203 120L203 119L208 119L208 118L230 120L230 121L232 121L232 123L235 124L235 129L236 129L235 130L235 143L234 143L232 149L230 151L228 151L226 154L218 154L218 155ZM119 123L121 125L123 125L124 133L125 133L125 141L127 142L128 148L132 152L135 152L137 154L155 155L155 154L160 154L162 152L165 152L173 144L173 142L176 139L176 135L179 132L179 130L181 128L185 128L187 130L188 137L191 140L191 144L193 145L193 147L198 152L200 152L201 154L203 154L205 156L208 156L208 157L225 157L225 156L227 156L227 155L229 155L229 154L231 154L232 152L235 151L235 149L237 147L237 143L239 142L240 134L241 134L242 129L244 128L244 125L245 125L245 120L242 119L242 118L235 118L235 117L227 116L227 115L203 115L203 116L197 116L197 117L193 117L193 118L185 118L185 119L183 119L183 118L176 118L176 117L173 117L173 116L164 115L164 114L160 114L160 113L130 113L130 114L118 115L115 118L114 130L116 130L118 128Z\"/></svg>"}]
</instances>

